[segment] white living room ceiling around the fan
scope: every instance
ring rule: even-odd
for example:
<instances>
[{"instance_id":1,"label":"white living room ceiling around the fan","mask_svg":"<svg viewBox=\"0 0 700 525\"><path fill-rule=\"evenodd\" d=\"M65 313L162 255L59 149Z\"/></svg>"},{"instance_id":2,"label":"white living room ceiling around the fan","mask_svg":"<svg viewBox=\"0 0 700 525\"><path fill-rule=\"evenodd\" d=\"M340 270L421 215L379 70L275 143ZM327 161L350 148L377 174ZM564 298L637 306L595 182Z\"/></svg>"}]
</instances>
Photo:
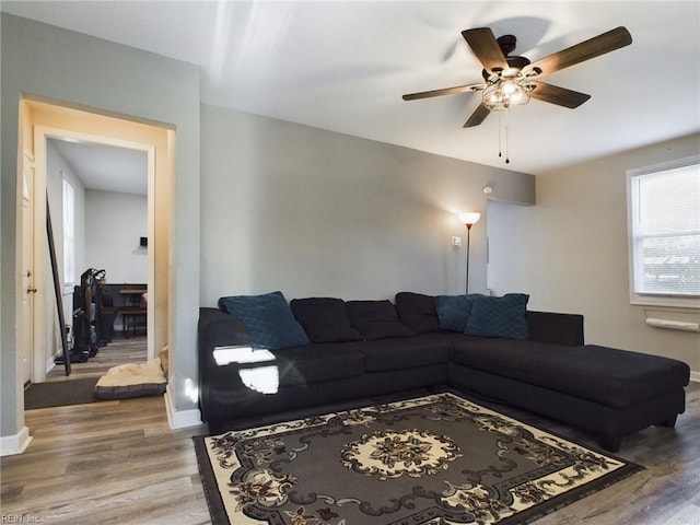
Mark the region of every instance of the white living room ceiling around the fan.
<instances>
[{"instance_id":1,"label":"white living room ceiling around the fan","mask_svg":"<svg viewBox=\"0 0 700 525\"><path fill-rule=\"evenodd\" d=\"M207 104L520 172L700 130L697 0L3 1L2 10L197 63ZM462 127L480 93L401 100L481 80L463 30L514 34L515 54L534 61L620 25L631 46L544 78L588 102L511 112L509 165L494 115Z\"/></svg>"}]
</instances>

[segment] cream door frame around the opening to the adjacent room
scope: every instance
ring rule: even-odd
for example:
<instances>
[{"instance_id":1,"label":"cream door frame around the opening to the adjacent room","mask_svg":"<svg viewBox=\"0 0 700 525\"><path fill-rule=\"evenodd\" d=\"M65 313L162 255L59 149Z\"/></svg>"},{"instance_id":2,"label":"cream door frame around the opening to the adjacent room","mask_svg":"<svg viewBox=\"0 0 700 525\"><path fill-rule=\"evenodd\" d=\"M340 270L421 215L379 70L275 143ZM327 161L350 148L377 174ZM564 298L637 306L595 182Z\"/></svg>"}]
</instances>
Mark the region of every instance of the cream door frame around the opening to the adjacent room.
<instances>
[{"instance_id":1,"label":"cream door frame around the opening to the adjacent room","mask_svg":"<svg viewBox=\"0 0 700 525\"><path fill-rule=\"evenodd\" d=\"M155 242L149 243L148 250L148 288L150 296L149 304L153 307L148 310L148 359L155 357L156 346L167 345L168 318L171 304L167 301L170 271L165 268L164 261L170 260L170 232L163 232L163 226L156 226L156 209L167 209L172 195L170 191L159 191L156 195L156 174L161 183L167 188L172 185L174 176L171 162L170 148L172 148L172 137L174 130L158 124L131 120L120 116L105 115L97 112L85 110L84 108L71 108L60 104L52 104L46 101L34 101L23 98L21 105L24 106L25 125L31 129L24 135L24 149L34 155L34 224L37 226L34 236L34 259L35 288L37 289L34 308L34 363L31 370L31 381L42 382L46 378L46 372L54 365L55 352L60 351L60 347L51 342L56 336L50 330L57 328L57 323L49 316L56 315L54 299L52 277L48 271L48 246L46 234L39 226L46 223L46 199L37 199L36 196L46 195L46 141L49 138L69 138L71 140L116 145L143 151L148 158L148 235ZM103 132L104 131L104 132ZM160 166L160 167L159 167ZM18 189L21 199L22 187ZM156 205L158 202L158 205ZM19 217L18 223L25 228L24 221ZM164 214L161 211L161 214ZM158 219L163 224L163 219ZM56 220L55 220L56 222ZM18 232L20 233L20 232ZM22 234L24 231L22 231ZM156 265L161 270L161 277L156 280ZM163 276L165 273L165 276ZM19 284L21 285L21 284ZM61 283L61 289L63 283ZM151 299L155 301L151 302ZM18 314L22 307L22 295L18 294ZM47 328L47 322L50 322ZM68 323L68 319L66 319ZM25 329L24 327L22 329ZM58 334L58 332L57 332ZM59 334L58 334L59 335ZM22 334L22 337L24 335ZM60 341L60 338L58 338ZM21 386L21 385L18 385Z\"/></svg>"}]
</instances>

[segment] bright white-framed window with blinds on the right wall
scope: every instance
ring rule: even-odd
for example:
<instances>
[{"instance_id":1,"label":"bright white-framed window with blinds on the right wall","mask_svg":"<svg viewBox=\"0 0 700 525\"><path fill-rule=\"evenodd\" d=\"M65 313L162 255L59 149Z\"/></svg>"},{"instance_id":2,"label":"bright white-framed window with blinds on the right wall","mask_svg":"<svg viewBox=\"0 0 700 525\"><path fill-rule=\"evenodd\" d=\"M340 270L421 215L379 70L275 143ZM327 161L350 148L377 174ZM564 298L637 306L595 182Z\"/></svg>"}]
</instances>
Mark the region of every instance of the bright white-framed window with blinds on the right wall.
<instances>
[{"instance_id":1,"label":"bright white-framed window with blinds on the right wall","mask_svg":"<svg viewBox=\"0 0 700 525\"><path fill-rule=\"evenodd\" d=\"M628 172L630 295L700 307L700 156Z\"/></svg>"}]
</instances>

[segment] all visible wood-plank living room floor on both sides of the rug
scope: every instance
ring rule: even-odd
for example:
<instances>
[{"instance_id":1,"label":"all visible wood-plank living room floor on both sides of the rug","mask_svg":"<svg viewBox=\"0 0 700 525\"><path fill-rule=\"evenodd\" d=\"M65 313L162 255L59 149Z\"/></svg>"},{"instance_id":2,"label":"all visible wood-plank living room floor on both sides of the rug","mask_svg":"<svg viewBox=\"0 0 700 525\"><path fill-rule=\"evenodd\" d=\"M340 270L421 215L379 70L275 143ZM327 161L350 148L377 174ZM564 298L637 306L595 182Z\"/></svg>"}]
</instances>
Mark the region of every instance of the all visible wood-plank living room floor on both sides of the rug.
<instances>
[{"instance_id":1,"label":"all visible wood-plank living room floor on both sides of the rug","mask_svg":"<svg viewBox=\"0 0 700 525\"><path fill-rule=\"evenodd\" d=\"M623 440L619 455L644 471L535 523L699 525L700 384L687 394L676 429ZM567 427L523 419L594 446ZM26 424L34 441L0 466L3 523L210 523L190 439L206 428L171 431L162 397L28 410Z\"/></svg>"}]
</instances>

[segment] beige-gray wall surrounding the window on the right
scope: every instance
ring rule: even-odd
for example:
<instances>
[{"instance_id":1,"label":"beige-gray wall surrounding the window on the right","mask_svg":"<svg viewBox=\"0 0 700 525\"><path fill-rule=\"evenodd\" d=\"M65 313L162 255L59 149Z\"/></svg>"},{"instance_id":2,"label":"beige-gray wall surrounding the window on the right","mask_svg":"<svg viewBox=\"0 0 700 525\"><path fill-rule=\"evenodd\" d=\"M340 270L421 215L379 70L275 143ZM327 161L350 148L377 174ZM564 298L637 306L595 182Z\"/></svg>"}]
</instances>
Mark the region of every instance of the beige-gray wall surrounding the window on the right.
<instances>
[{"instance_id":1,"label":"beige-gray wall surrounding the window on the right","mask_svg":"<svg viewBox=\"0 0 700 525\"><path fill-rule=\"evenodd\" d=\"M491 205L500 233L489 237L489 285L529 293L534 310L583 314L590 343L680 359L700 374L700 334L645 324L645 311L695 323L700 311L630 304L626 189L627 170L699 152L698 135L628 151L538 175L536 207Z\"/></svg>"}]
</instances>

